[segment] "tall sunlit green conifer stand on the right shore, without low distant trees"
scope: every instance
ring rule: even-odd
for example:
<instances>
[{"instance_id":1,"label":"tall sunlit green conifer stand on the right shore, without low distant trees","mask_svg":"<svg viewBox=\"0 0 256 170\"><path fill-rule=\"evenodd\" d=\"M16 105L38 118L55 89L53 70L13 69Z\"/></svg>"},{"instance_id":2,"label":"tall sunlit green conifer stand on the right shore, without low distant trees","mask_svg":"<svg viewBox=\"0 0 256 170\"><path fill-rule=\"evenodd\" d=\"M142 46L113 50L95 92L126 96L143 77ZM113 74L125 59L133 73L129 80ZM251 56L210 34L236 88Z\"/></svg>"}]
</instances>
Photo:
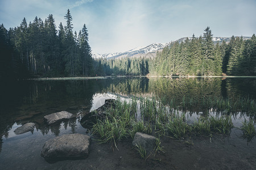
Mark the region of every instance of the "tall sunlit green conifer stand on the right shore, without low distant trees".
<instances>
[{"instance_id":1,"label":"tall sunlit green conifer stand on the right shore, without low distant trees","mask_svg":"<svg viewBox=\"0 0 256 170\"><path fill-rule=\"evenodd\" d=\"M227 44L214 45L209 27L203 37L192 36L184 42L172 42L158 53L156 75L256 75L256 37L249 40L232 36Z\"/></svg>"}]
</instances>

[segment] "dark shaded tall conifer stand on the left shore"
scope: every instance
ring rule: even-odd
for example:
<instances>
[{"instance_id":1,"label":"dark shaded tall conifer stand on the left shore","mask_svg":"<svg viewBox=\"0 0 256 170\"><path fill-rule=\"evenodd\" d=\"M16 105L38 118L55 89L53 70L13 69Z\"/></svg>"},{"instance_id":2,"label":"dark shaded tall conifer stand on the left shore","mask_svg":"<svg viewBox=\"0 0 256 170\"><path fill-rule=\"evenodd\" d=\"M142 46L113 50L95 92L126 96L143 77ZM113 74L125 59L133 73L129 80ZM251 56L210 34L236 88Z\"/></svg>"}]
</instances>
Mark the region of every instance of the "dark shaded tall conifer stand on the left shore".
<instances>
[{"instance_id":1,"label":"dark shaded tall conifer stand on the left shore","mask_svg":"<svg viewBox=\"0 0 256 170\"><path fill-rule=\"evenodd\" d=\"M67 25L56 30L52 15L43 22L35 17L31 23L24 18L19 27L1 32L1 77L22 75L89 76L93 75L93 59L88 44L86 26L77 33L72 30L72 16L68 10L64 16ZM6 48L7 46L8 48ZM17 70L22 70L17 71Z\"/></svg>"}]
</instances>

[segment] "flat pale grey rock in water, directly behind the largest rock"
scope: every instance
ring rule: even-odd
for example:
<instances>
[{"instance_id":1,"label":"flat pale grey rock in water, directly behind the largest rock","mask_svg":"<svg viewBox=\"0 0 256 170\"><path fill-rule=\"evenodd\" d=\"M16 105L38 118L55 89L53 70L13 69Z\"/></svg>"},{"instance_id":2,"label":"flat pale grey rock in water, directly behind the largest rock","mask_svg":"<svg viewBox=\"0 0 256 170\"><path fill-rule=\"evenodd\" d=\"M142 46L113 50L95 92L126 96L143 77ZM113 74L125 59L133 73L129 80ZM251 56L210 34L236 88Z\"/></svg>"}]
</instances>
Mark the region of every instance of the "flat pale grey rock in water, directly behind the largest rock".
<instances>
[{"instance_id":1,"label":"flat pale grey rock in water, directly behind the largest rock","mask_svg":"<svg viewBox=\"0 0 256 170\"><path fill-rule=\"evenodd\" d=\"M72 117L75 117L73 116L72 113L61 111L61 112L52 113L44 116L44 121L46 121L47 124L49 125L49 124L54 124L55 122L63 121L65 119L69 119Z\"/></svg>"}]
</instances>

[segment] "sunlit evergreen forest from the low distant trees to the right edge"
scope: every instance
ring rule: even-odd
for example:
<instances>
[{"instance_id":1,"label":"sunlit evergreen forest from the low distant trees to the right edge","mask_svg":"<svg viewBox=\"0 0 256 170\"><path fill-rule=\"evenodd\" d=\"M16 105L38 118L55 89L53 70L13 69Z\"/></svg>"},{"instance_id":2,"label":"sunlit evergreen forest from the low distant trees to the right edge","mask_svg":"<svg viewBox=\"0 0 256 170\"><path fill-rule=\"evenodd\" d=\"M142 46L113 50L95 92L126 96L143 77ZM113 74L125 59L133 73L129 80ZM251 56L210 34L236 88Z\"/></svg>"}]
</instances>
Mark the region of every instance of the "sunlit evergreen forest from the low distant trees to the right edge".
<instances>
[{"instance_id":1,"label":"sunlit evergreen forest from the low distant trees to the right edge","mask_svg":"<svg viewBox=\"0 0 256 170\"><path fill-rule=\"evenodd\" d=\"M101 75L256 75L256 37L232 36L214 45L209 27L200 37L171 42L156 58L98 59Z\"/></svg>"}]
</instances>

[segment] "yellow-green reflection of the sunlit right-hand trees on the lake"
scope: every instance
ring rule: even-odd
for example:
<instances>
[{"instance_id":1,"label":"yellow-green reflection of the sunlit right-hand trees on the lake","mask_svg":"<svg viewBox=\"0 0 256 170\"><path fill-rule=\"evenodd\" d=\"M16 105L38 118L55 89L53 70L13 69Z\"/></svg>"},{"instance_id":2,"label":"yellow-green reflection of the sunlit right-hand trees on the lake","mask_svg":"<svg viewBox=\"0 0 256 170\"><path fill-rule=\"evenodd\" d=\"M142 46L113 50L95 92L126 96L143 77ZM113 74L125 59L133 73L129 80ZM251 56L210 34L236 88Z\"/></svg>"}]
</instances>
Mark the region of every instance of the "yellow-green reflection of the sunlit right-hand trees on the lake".
<instances>
[{"instance_id":1,"label":"yellow-green reflection of the sunlit right-hand trees on the lake","mask_svg":"<svg viewBox=\"0 0 256 170\"><path fill-rule=\"evenodd\" d=\"M135 78L111 83L106 92L123 95L154 94L166 99L181 100L183 96L201 99L205 96L221 96L221 79L213 78Z\"/></svg>"}]
</instances>

